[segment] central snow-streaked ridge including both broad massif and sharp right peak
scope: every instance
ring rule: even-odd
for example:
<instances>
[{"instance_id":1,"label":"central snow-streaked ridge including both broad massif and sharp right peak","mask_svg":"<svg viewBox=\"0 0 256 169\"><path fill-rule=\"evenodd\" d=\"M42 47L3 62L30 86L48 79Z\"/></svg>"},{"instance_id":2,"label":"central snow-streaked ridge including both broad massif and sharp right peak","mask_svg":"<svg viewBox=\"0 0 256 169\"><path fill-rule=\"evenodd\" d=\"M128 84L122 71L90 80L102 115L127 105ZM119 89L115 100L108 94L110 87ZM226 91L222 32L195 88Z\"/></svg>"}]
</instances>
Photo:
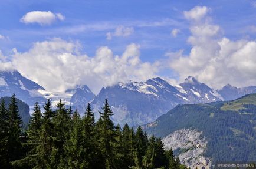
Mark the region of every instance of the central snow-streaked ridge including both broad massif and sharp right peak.
<instances>
[{"instance_id":1,"label":"central snow-streaked ridge including both broad massif and sharp right peak","mask_svg":"<svg viewBox=\"0 0 256 169\"><path fill-rule=\"evenodd\" d=\"M113 106L113 121L132 126L149 123L177 104L223 100L216 90L192 76L177 86L157 77L146 82L130 81L103 88L92 102L94 109L100 110L106 98Z\"/></svg>"}]
</instances>

